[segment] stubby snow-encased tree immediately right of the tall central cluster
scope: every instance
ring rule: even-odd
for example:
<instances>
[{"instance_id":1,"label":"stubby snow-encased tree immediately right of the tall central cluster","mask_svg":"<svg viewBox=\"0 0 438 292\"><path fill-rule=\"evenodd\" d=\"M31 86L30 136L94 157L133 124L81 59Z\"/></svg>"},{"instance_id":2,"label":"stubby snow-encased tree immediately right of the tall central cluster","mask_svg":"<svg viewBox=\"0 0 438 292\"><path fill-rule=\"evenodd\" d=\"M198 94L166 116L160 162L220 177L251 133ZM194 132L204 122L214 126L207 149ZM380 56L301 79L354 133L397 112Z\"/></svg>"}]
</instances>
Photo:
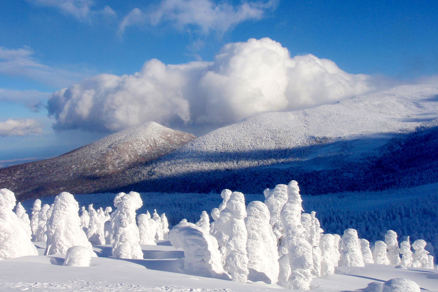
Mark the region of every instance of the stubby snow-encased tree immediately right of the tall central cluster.
<instances>
[{"instance_id":1,"label":"stubby snow-encased tree immediately right of the tall central cluster","mask_svg":"<svg viewBox=\"0 0 438 292\"><path fill-rule=\"evenodd\" d=\"M319 241L321 249L321 275L334 274L335 267L338 266L339 251L333 234L323 234ZM336 243L336 244L335 244Z\"/></svg>"}]
</instances>

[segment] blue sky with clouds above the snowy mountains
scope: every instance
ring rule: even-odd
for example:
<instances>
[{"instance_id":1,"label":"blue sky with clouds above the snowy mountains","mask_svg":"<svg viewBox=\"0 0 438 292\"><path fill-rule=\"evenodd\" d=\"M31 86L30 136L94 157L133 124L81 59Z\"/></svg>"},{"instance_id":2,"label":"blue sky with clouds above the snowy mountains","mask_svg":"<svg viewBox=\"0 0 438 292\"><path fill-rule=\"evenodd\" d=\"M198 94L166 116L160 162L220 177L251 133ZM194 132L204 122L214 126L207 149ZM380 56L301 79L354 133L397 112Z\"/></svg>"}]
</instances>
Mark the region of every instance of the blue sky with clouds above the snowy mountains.
<instances>
[{"instance_id":1,"label":"blue sky with clouds above the snowy mountains","mask_svg":"<svg viewBox=\"0 0 438 292\"><path fill-rule=\"evenodd\" d=\"M3 0L0 1L0 160L58 155L146 120L199 135L258 112L298 109L299 106L293 106L294 101L302 98L287 89L287 84L291 84L291 79L309 79L303 70L314 67L309 67L309 58L304 58L307 62L304 69L293 67L290 62L298 61L284 56L284 49L292 58L312 54L310 58L317 63L321 63L320 59L331 60L343 73L350 74L345 75L345 80L350 80L352 74L366 75L360 78L354 75L359 79L354 77L356 81L349 81L351 90L342 96L314 97L301 102L301 107L368 92L377 88L376 80L406 84L428 77L434 79L438 74L437 18L436 1ZM251 38L257 41L248 42ZM259 41L262 38L269 41ZM226 44L235 45L226 47ZM280 90L278 97L267 96L272 87L258 88L251 83L253 77L245 77L247 71L263 66L278 71L272 61L275 58L251 67L255 66L254 60L267 56L255 52L261 47L269 50L269 58L283 58L288 72L294 68L293 73L285 73L289 81L277 84L286 92ZM246 56L246 61L253 65L232 68L233 62ZM159 63L150 63L142 70L145 62L152 59ZM160 64L191 61L199 63L187 65L189 69L178 67L179 73L166 67L163 74L167 75L162 79L155 75L144 78L161 70ZM320 64L323 69L327 66ZM136 72L142 72L138 74L143 77L135 75ZM113 77L99 74L114 75L118 79L111 82L123 89L116 93L113 88L109 90L108 85L102 84L108 84ZM132 75L129 82L121 80L124 74ZM237 84L233 76L244 77ZM276 79L283 77L279 75ZM86 81L89 78L95 79ZM228 79L223 81L224 78ZM257 78L272 85L273 81L266 76L258 74ZM313 75L311 78L314 82L320 80ZM191 85L181 85L180 80ZM136 91L138 82L141 86ZM218 82L230 89L210 94L219 90L215 88ZM81 86L71 90L76 99L70 104L78 108L92 102L93 106L82 108L80 114L72 113L67 110L70 91L58 92L52 98L51 117L48 117L49 95L72 84ZM272 86L277 88L277 85ZM155 91L148 91L150 86ZM168 88L175 87L177 90L168 92ZM248 94L240 95L242 88L247 87L251 88ZM330 89L325 87L318 92ZM89 90L103 93L89 98ZM254 90L275 106L261 103L259 96L247 99ZM195 91L202 91L208 97L194 94ZM118 103L111 103L113 95L118 96ZM120 97L126 95L137 97ZM104 101L100 104L101 100ZM120 106L120 101L151 110L136 112L126 106L125 112L114 113L106 120L99 117L103 113L95 110ZM201 109L205 102L207 109ZM218 118L217 109L208 109L211 104L231 114L220 116L219 113ZM249 110L239 110L248 105ZM119 118L120 115L131 118ZM111 123L111 119L119 120ZM52 129L53 123L57 130Z\"/></svg>"}]
</instances>

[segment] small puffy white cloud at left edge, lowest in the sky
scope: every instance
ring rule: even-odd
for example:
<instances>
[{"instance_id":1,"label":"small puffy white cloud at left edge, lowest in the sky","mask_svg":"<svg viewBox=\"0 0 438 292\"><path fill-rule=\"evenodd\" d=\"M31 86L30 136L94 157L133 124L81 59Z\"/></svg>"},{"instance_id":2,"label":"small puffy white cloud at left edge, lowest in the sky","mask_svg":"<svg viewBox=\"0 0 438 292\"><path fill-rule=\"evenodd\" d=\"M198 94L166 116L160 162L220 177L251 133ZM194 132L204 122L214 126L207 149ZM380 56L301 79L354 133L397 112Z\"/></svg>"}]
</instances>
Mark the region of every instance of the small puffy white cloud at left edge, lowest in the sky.
<instances>
[{"instance_id":1,"label":"small puffy white cloud at left edge, lowest in the sky","mask_svg":"<svg viewBox=\"0 0 438 292\"><path fill-rule=\"evenodd\" d=\"M30 134L41 134L44 125L35 119L7 120L0 121L0 136L24 136Z\"/></svg>"}]
</instances>

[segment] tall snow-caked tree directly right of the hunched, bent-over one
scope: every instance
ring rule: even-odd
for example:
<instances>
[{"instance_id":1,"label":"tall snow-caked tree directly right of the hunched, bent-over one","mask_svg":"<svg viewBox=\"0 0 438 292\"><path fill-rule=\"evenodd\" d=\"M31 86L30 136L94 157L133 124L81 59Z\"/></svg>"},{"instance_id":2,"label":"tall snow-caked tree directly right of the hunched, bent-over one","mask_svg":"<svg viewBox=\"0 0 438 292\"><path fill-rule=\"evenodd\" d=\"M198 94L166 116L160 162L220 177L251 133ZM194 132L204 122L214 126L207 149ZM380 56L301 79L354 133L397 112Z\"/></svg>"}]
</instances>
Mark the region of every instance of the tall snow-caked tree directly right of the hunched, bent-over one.
<instances>
[{"instance_id":1,"label":"tall snow-caked tree directly right of the hunched, bent-over one","mask_svg":"<svg viewBox=\"0 0 438 292\"><path fill-rule=\"evenodd\" d=\"M233 192L218 221L219 230L228 237L224 244L226 271L233 281L238 282L246 282L248 279L246 215L244 194Z\"/></svg>"}]
</instances>

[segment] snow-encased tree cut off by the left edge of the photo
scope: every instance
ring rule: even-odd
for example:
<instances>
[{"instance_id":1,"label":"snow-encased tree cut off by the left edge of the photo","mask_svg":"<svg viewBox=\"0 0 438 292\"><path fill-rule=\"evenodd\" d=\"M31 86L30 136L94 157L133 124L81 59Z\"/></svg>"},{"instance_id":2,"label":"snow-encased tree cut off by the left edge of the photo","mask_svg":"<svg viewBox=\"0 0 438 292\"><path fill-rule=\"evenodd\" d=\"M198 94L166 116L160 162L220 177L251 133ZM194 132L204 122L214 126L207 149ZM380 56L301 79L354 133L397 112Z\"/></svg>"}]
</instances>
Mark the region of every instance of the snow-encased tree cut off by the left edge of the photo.
<instances>
[{"instance_id":1,"label":"snow-encased tree cut off by the left edge of the photo","mask_svg":"<svg viewBox=\"0 0 438 292\"><path fill-rule=\"evenodd\" d=\"M12 211L15 202L13 192L0 189L0 260L38 255L31 235L22 228L21 219Z\"/></svg>"}]
</instances>

